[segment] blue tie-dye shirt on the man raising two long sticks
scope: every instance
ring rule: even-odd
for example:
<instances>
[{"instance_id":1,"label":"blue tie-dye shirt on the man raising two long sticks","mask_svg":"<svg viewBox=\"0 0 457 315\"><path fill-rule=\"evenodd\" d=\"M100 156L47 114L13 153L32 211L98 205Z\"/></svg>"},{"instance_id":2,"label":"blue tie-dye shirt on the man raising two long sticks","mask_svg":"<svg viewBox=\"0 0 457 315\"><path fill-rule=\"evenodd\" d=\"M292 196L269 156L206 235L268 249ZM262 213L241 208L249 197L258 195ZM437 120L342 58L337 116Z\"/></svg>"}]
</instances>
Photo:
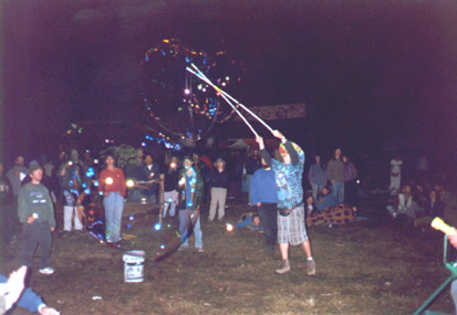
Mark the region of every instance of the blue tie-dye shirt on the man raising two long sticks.
<instances>
[{"instance_id":1,"label":"blue tie-dye shirt on the man raising two long sticks","mask_svg":"<svg viewBox=\"0 0 457 315\"><path fill-rule=\"evenodd\" d=\"M263 159L274 171L278 195L278 208L293 209L303 203L302 176L304 166L304 153L294 143L284 144L291 162L272 159L267 150L261 150Z\"/></svg>"}]
</instances>

